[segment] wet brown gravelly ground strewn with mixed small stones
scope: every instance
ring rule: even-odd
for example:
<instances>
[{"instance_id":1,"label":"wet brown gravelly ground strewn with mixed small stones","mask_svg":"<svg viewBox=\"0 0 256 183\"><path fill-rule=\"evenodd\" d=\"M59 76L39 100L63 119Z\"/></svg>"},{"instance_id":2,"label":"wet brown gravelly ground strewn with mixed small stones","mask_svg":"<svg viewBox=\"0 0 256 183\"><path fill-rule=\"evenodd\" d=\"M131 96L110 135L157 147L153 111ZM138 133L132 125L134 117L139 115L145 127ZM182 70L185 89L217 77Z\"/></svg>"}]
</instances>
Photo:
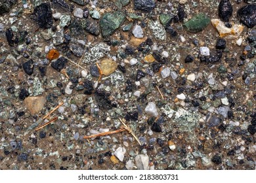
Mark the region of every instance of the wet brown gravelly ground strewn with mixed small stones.
<instances>
[{"instance_id":1,"label":"wet brown gravelly ground strewn with mixed small stones","mask_svg":"<svg viewBox=\"0 0 256 183\"><path fill-rule=\"evenodd\" d=\"M221 18L219 1L81 2L0 6L0 169L255 169L256 31L237 16L255 2L231 1L226 28L243 31L224 48L211 22L184 26ZM83 139L119 118L140 144L128 131Z\"/></svg>"}]
</instances>

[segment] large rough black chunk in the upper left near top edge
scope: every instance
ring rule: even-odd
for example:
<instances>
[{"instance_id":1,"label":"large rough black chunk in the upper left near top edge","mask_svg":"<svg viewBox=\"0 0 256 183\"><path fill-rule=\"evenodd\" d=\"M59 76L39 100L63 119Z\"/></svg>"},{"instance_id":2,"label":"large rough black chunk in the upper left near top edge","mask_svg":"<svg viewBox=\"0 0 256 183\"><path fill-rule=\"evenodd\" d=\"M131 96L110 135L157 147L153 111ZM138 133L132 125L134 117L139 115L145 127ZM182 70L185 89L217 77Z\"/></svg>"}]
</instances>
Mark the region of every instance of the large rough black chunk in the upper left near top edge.
<instances>
[{"instance_id":1,"label":"large rough black chunk in the upper left near top edge","mask_svg":"<svg viewBox=\"0 0 256 183\"><path fill-rule=\"evenodd\" d=\"M49 29L53 26L53 13L50 3L42 3L35 7L34 14L40 28Z\"/></svg>"}]
</instances>

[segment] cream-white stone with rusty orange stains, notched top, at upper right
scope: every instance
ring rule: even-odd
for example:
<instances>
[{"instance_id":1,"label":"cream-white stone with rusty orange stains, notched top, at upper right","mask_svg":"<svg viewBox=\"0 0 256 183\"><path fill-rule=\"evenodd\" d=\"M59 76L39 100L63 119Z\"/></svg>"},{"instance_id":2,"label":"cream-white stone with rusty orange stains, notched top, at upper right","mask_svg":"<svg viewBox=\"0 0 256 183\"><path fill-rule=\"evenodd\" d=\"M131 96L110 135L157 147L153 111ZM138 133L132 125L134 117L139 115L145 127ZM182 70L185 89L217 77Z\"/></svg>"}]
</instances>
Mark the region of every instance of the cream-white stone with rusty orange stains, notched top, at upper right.
<instances>
[{"instance_id":1,"label":"cream-white stone with rusty orange stains, notched top, at upper right","mask_svg":"<svg viewBox=\"0 0 256 183\"><path fill-rule=\"evenodd\" d=\"M239 24L234 24L231 28L228 28L219 19L211 19L211 24L217 29L219 36L226 39L237 39L244 30L244 26Z\"/></svg>"}]
</instances>

